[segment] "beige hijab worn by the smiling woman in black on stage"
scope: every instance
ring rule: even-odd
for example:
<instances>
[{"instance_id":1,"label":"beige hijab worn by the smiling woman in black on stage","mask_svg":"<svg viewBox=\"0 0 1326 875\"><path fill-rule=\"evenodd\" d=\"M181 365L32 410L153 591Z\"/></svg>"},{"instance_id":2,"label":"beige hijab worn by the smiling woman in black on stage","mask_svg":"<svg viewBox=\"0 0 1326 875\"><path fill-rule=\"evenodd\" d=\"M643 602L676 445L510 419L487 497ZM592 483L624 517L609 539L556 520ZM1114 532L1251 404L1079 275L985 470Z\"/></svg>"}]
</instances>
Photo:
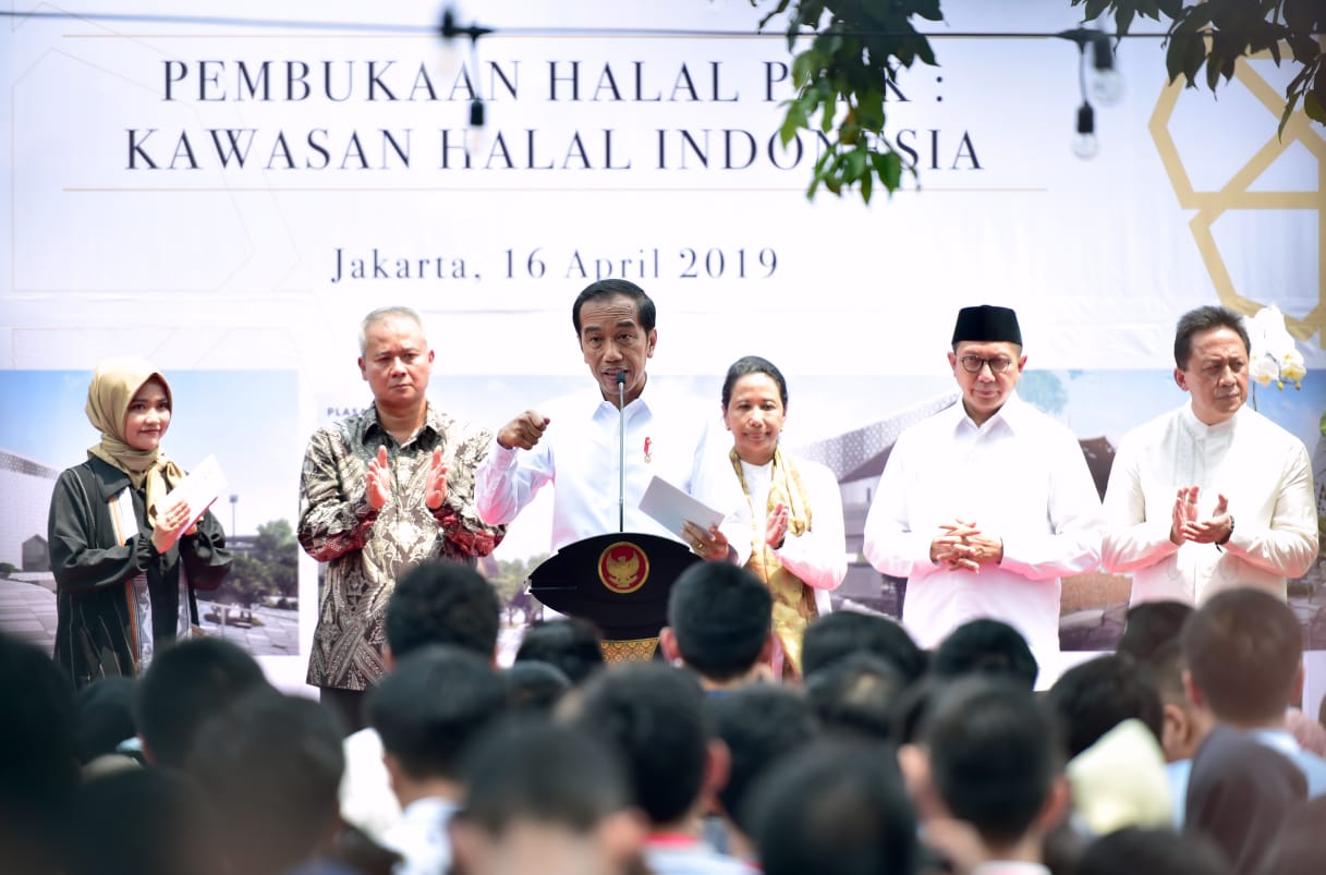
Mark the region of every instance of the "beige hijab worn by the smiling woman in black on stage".
<instances>
[{"instance_id":1,"label":"beige hijab worn by the smiling woman in black on stage","mask_svg":"<svg viewBox=\"0 0 1326 875\"><path fill-rule=\"evenodd\" d=\"M166 390L167 400L174 399L170 383L160 371L139 358L113 358L97 366L88 387L88 419L101 432L101 443L88 448L109 465L129 475L135 489L147 487L147 524L152 525L156 506L166 497L166 484L176 485L184 479L179 465L166 457L160 448L134 449L125 443L125 416L129 403L147 380L155 379Z\"/></svg>"}]
</instances>

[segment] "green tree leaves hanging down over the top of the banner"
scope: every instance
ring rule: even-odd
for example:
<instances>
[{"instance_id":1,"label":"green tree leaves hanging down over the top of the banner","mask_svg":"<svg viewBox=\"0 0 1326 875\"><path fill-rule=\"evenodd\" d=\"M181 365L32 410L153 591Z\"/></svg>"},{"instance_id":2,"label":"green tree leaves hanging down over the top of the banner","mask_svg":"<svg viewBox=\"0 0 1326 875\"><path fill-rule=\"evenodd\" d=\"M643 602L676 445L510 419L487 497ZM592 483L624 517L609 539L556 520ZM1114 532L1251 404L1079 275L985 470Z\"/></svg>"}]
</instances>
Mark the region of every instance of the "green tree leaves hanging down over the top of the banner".
<instances>
[{"instance_id":1,"label":"green tree leaves hanging down over the top of the banner","mask_svg":"<svg viewBox=\"0 0 1326 875\"><path fill-rule=\"evenodd\" d=\"M884 133L884 94L900 69L916 61L937 65L930 40L912 21L943 21L940 0L751 0L751 5L769 8L760 29L788 15L797 95L782 105L780 141L788 146L802 131L821 131L827 143L806 198L822 186L839 198L858 191L870 203L876 186L892 195L903 172L918 178L916 167L903 160ZM1326 125L1326 53L1318 38L1326 32L1322 0L1071 0L1071 5L1082 7L1089 21L1113 15L1119 36L1139 17L1168 20L1166 72L1171 82L1181 76L1188 88L1204 81L1215 91L1235 76L1240 58L1261 52L1280 65L1288 46L1302 69L1285 89L1280 133L1299 101L1310 119Z\"/></svg>"}]
</instances>

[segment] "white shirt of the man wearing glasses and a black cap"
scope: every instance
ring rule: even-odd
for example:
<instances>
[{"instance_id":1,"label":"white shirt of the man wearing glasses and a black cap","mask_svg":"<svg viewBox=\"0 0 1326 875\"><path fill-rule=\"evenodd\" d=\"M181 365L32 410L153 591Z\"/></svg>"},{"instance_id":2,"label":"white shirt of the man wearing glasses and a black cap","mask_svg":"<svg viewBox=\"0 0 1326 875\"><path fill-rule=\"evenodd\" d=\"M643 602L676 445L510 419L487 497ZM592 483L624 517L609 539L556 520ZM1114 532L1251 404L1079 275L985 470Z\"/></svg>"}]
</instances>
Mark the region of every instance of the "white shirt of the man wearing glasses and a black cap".
<instances>
[{"instance_id":1,"label":"white shirt of the man wearing glasses and a black cap","mask_svg":"<svg viewBox=\"0 0 1326 875\"><path fill-rule=\"evenodd\" d=\"M930 544L955 518L998 536L1002 562L980 573L932 563ZM959 402L899 436L866 516L865 554L907 578L903 624L922 647L992 618L1044 666L1059 651L1059 577L1095 567L1101 526L1077 438L1014 395L981 426Z\"/></svg>"}]
</instances>

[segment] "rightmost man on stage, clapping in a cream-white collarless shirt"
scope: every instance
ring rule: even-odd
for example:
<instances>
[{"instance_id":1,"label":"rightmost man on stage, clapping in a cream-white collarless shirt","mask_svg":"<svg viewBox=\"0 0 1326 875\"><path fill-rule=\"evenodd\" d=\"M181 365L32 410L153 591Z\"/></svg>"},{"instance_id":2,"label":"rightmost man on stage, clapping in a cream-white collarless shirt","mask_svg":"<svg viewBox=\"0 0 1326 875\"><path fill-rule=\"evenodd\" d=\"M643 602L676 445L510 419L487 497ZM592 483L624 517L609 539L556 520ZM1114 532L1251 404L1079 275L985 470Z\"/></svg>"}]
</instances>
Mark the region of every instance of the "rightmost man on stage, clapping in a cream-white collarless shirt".
<instances>
[{"instance_id":1,"label":"rightmost man on stage, clapping in a cream-white collarless shirt","mask_svg":"<svg viewBox=\"0 0 1326 875\"><path fill-rule=\"evenodd\" d=\"M1200 605L1235 586L1284 599L1286 579L1317 558L1307 449L1244 407L1249 353L1237 313L1185 313L1174 341L1174 382L1191 403L1119 441L1101 563L1132 573L1134 605Z\"/></svg>"}]
</instances>

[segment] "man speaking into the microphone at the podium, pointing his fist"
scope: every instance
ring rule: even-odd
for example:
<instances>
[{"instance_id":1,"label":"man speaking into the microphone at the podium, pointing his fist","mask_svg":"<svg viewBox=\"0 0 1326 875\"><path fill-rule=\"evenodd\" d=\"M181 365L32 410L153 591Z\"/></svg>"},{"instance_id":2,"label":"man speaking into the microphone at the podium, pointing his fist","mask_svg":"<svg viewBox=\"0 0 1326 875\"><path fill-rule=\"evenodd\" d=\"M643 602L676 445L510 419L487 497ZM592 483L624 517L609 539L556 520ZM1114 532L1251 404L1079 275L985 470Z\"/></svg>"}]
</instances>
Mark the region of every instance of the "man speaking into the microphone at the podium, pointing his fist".
<instances>
[{"instance_id":1,"label":"man speaking into the microphone at the podium, pointing his fist","mask_svg":"<svg viewBox=\"0 0 1326 875\"><path fill-rule=\"evenodd\" d=\"M691 492L709 419L658 387L644 392L658 343L654 320L654 301L634 282L599 280L579 293L572 323L597 391L526 410L501 427L475 473L475 505L484 522L511 522L552 483L554 550L618 530L687 540L639 509L655 475ZM690 538L690 546L701 555L727 554L717 529Z\"/></svg>"}]
</instances>

